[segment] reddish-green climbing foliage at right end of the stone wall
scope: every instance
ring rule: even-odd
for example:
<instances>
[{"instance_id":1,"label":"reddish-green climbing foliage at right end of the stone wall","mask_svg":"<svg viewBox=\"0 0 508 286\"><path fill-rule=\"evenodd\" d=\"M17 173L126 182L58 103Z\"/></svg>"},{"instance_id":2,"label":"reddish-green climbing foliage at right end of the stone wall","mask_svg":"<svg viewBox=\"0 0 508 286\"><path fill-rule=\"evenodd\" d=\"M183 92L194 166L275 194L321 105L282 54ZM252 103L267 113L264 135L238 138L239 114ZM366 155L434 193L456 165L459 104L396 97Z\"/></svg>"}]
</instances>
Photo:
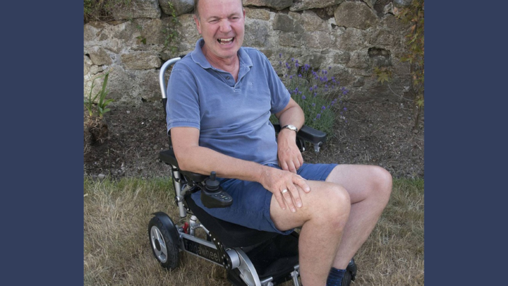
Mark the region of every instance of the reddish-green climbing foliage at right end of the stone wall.
<instances>
[{"instance_id":1,"label":"reddish-green climbing foliage at right end of the stone wall","mask_svg":"<svg viewBox=\"0 0 508 286\"><path fill-rule=\"evenodd\" d=\"M420 110L424 107L424 0L413 0L411 5L402 8L397 13L397 17L405 23L411 24L410 32L405 36L406 46L409 52L401 57L401 61L410 63L410 73L412 76L411 91L414 94L414 103L416 112L416 121L414 128L417 127Z\"/></svg>"}]
</instances>

